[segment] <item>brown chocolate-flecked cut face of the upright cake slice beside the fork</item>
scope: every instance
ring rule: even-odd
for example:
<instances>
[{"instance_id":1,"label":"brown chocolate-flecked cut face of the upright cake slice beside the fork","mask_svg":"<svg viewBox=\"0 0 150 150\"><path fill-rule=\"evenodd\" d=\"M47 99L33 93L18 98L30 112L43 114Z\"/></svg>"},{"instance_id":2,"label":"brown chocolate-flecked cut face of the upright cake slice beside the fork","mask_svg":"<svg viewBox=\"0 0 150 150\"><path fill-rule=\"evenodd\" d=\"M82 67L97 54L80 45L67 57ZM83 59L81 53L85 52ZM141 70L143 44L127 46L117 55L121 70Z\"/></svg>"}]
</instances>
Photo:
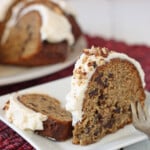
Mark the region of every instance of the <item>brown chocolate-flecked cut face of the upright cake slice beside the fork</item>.
<instances>
[{"instance_id":1,"label":"brown chocolate-flecked cut face of the upright cake slice beside the fork","mask_svg":"<svg viewBox=\"0 0 150 150\"><path fill-rule=\"evenodd\" d=\"M99 66L89 81L82 121L75 125L73 143L96 142L131 122L131 101L145 98L139 73L127 60L112 59Z\"/></svg>"}]
</instances>

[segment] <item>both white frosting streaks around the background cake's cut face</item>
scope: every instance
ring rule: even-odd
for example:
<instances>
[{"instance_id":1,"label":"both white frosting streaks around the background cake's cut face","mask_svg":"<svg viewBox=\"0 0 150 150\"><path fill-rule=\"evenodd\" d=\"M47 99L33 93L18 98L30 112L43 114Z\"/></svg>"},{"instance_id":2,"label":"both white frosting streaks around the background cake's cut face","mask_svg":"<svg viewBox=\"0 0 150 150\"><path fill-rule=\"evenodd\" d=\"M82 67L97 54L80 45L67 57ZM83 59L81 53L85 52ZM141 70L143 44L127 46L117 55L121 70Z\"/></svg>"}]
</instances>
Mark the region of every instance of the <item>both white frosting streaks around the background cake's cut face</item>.
<instances>
[{"instance_id":1,"label":"both white frosting streaks around the background cake's cut face","mask_svg":"<svg viewBox=\"0 0 150 150\"><path fill-rule=\"evenodd\" d=\"M17 14L21 8L22 4L20 3L13 9L13 14L6 25L2 43L6 42L11 27L17 22ZM40 32L42 41L47 40L48 42L57 43L67 40L69 45L74 43L72 27L65 16L55 13L44 5L35 4L24 8L20 13L19 18L31 11L38 11L41 15L42 25Z\"/></svg>"}]
</instances>

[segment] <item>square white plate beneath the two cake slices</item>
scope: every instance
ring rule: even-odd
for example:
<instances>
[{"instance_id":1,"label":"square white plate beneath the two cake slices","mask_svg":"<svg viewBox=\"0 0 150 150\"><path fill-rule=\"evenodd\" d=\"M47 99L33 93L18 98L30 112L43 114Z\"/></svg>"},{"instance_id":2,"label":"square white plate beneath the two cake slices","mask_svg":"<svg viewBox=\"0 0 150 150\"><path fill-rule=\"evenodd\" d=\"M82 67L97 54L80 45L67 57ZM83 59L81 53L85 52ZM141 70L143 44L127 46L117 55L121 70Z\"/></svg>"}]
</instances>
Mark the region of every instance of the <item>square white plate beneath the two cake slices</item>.
<instances>
[{"instance_id":1,"label":"square white plate beneath the two cake slices","mask_svg":"<svg viewBox=\"0 0 150 150\"><path fill-rule=\"evenodd\" d=\"M19 92L46 93L59 99L62 102L62 105L64 105L66 94L69 92L70 89L70 80L71 78L68 77L57 81L49 82L43 85L35 86ZM147 99L148 97L150 98L149 93L147 93ZM22 131L9 123L5 118L4 111L2 110L4 104L8 99L9 95L0 97L0 119L3 122L5 122L8 126L10 126L13 130L15 130L18 134L20 134L24 139L26 139L37 150L114 150L147 139L146 135L135 130L135 128L132 125L127 125L124 128L117 131L116 133L105 136L99 142L88 146L74 145L72 144L71 139L65 142L50 141L32 132Z\"/></svg>"}]
</instances>

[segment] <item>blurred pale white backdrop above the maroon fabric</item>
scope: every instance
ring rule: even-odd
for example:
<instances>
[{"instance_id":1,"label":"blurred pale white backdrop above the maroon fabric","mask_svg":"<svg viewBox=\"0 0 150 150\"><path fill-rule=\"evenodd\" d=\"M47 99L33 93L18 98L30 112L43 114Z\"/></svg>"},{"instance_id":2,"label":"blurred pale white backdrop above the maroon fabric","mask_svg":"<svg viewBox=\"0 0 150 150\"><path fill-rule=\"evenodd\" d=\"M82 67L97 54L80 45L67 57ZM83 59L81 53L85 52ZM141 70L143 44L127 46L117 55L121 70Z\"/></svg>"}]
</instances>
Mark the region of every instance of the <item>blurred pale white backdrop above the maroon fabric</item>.
<instances>
[{"instance_id":1,"label":"blurred pale white backdrop above the maroon fabric","mask_svg":"<svg viewBox=\"0 0 150 150\"><path fill-rule=\"evenodd\" d=\"M128 44L150 45L149 0L66 0L83 31Z\"/></svg>"}]
</instances>

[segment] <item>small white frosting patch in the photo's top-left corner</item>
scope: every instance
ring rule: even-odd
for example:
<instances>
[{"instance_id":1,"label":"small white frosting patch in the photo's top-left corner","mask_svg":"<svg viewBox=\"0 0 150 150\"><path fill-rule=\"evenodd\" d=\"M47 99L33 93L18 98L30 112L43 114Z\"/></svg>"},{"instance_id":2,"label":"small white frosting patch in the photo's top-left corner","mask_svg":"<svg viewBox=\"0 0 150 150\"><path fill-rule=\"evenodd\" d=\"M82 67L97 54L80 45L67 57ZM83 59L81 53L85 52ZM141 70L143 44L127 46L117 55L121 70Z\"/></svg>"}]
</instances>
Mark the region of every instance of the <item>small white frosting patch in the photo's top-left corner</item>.
<instances>
[{"instance_id":1,"label":"small white frosting patch in the photo's top-left corner","mask_svg":"<svg viewBox=\"0 0 150 150\"><path fill-rule=\"evenodd\" d=\"M14 0L1 0L0 1L0 21L4 21L8 9L14 3Z\"/></svg>"}]
</instances>

